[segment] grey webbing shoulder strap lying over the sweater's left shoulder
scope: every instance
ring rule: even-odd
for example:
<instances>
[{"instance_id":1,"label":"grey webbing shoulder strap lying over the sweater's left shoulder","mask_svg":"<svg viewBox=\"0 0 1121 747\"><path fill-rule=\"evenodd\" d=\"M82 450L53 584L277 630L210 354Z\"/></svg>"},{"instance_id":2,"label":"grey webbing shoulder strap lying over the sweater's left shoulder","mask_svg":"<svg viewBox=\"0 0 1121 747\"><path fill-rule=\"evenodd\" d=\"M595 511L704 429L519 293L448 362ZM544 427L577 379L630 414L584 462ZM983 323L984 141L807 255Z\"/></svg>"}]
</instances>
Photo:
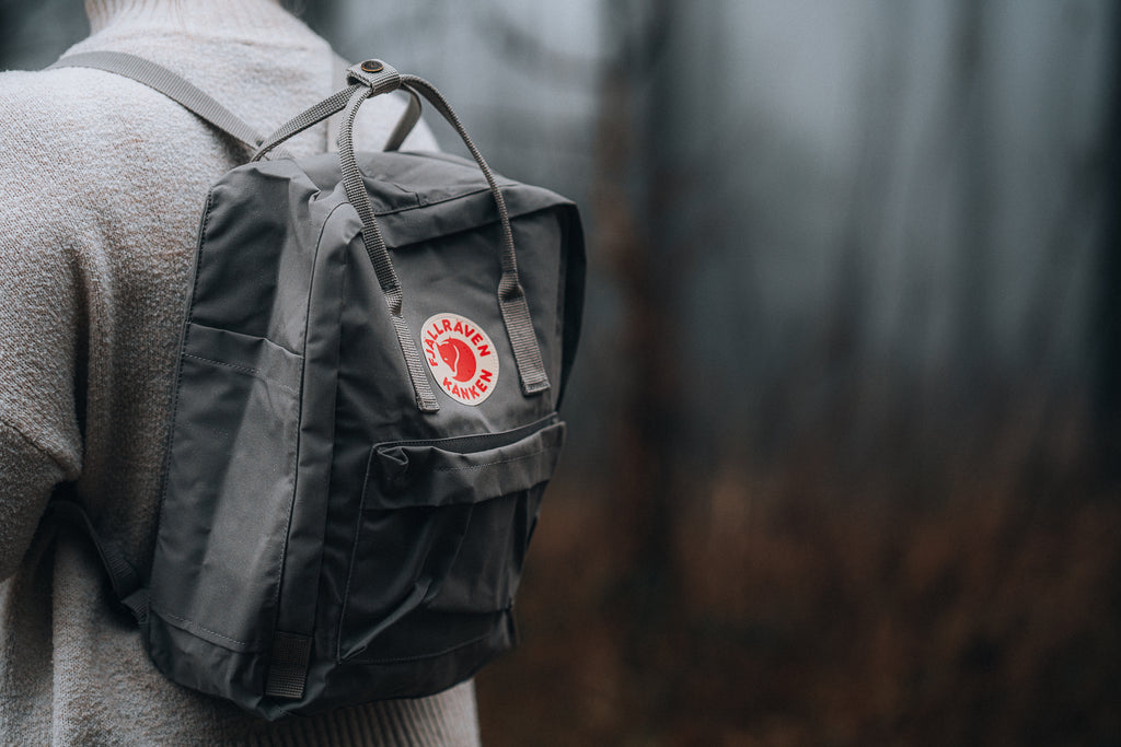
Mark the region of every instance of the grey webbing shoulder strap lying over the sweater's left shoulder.
<instances>
[{"instance_id":1,"label":"grey webbing shoulder strap lying over the sweater's left shoulder","mask_svg":"<svg viewBox=\"0 0 1121 747\"><path fill-rule=\"evenodd\" d=\"M93 67L130 77L178 102L250 150L261 143L261 136L237 114L176 73L143 57L122 52L82 52L63 57L47 69L54 67Z\"/></svg>"}]
</instances>

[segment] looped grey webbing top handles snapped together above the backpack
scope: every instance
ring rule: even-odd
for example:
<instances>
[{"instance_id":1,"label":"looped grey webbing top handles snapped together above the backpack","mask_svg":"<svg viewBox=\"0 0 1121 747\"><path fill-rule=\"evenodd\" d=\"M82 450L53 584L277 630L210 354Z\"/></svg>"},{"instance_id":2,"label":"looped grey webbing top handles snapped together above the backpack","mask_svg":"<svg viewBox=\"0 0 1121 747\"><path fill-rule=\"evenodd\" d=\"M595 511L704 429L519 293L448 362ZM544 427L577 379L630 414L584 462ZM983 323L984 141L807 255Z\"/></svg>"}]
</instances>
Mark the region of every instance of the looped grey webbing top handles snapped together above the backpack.
<instances>
[{"instance_id":1,"label":"looped grey webbing top handles snapped together above the backpack","mask_svg":"<svg viewBox=\"0 0 1121 747\"><path fill-rule=\"evenodd\" d=\"M417 352L413 335L408 325L401 316L401 284L389 259L386 242L378 228L374 217L373 205L367 194L365 185L362 183L362 172L358 168L354 156L354 120L362 103L382 93L389 93L404 88L414 99L417 94L423 95L452 128L460 134L463 144L466 146L471 156L475 159L491 194L494 196L494 204L498 208L499 223L501 225L502 241L502 277L499 280L498 301L502 311L502 321L506 326L507 336L510 339L510 347L513 351L513 360L518 367L518 375L521 381L521 391L529 396L545 392L549 389L548 374L545 372L545 364L541 360L540 347L537 344L537 335L534 332L534 323L529 314L529 304L526 300L526 292L518 278L518 262L513 248L513 231L510 227L510 214L506 207L506 199L498 187L494 175L482 153L475 148L471 137L467 136L460 118L456 116L447 101L436 88L424 78L415 75L401 75L392 66L380 59L368 59L358 65L352 65L346 71L346 80L350 86L335 92L326 100L312 106L302 114L297 114L276 132L265 139L260 149L253 155L252 160L259 160L269 150L287 140L291 136L300 132L316 122L344 111L343 121L339 132L339 162L343 174L343 187L346 190L346 198L354 209L358 211L362 221L362 241L365 245L367 254L373 264L374 273L381 286L381 291L386 297L393 326L397 330L397 340L401 346L405 363L413 381L414 393L416 394L417 408L423 412L436 412L439 403L433 394L428 377L424 372L420 354ZM393 137L390 138L393 140Z\"/></svg>"}]
</instances>

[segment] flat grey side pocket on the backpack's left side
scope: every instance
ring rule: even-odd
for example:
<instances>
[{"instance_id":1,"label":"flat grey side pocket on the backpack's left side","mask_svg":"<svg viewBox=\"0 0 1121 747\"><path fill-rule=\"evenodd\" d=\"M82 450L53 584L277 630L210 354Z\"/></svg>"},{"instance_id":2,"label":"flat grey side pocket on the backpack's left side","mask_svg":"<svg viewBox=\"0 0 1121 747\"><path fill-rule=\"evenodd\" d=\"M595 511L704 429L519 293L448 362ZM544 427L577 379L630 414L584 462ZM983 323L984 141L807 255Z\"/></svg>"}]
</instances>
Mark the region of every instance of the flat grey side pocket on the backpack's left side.
<instances>
[{"instance_id":1,"label":"flat grey side pocket on the backpack's left side","mask_svg":"<svg viewBox=\"0 0 1121 747\"><path fill-rule=\"evenodd\" d=\"M268 646L296 482L303 357L192 324L152 566L152 611L237 652Z\"/></svg>"}]
</instances>

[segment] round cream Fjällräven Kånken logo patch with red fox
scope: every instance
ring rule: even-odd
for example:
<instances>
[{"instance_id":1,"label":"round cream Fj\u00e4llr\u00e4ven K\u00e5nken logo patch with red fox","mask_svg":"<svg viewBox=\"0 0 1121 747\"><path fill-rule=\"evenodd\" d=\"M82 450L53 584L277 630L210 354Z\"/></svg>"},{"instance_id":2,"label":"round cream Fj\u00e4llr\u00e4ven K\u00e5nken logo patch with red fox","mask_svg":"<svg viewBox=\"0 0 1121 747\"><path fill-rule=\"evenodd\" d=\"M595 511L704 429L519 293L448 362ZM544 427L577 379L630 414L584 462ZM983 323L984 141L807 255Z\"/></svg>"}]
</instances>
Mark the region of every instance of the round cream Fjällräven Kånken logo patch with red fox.
<instances>
[{"instance_id":1,"label":"round cream Fj\u00e4llr\u00e4ven K\u00e5nken logo patch with red fox","mask_svg":"<svg viewBox=\"0 0 1121 747\"><path fill-rule=\"evenodd\" d=\"M481 404L498 383L498 352L482 327L458 314L437 314L420 333L424 357L444 393Z\"/></svg>"}]
</instances>

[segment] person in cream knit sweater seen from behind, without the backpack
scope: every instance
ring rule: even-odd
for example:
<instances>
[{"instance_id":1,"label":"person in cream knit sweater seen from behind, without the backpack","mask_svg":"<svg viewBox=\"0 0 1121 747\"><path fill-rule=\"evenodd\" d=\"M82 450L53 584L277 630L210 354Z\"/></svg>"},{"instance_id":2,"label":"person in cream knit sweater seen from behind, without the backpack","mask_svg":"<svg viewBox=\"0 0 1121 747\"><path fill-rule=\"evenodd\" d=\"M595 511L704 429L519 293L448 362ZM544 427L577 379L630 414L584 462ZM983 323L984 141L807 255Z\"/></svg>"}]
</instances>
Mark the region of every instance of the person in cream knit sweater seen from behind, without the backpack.
<instances>
[{"instance_id":1,"label":"person in cream knit sweater seen from behind, without the backpack","mask_svg":"<svg viewBox=\"0 0 1121 747\"><path fill-rule=\"evenodd\" d=\"M258 131L341 87L330 45L274 0L86 0L72 53L173 69ZM404 102L363 106L380 147ZM327 149L327 128L289 140ZM419 128L405 148L435 148ZM96 69L0 74L0 741L475 745L473 683L269 723L165 679L77 533L40 522L76 480L99 531L151 557L182 309L210 184L244 151Z\"/></svg>"}]
</instances>

